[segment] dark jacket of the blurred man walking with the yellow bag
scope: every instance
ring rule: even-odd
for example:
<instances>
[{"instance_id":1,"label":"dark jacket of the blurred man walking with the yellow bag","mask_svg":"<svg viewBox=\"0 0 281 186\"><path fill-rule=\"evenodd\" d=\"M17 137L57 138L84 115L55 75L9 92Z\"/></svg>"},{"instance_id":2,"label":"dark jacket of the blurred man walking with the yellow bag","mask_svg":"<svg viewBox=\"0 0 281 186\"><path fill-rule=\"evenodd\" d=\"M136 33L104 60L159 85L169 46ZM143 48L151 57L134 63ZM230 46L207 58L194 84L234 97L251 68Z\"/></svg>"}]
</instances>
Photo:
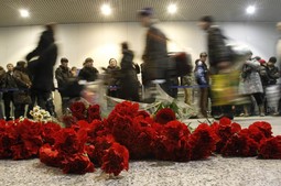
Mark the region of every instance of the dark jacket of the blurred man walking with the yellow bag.
<instances>
[{"instance_id":1,"label":"dark jacket of the blurred man walking with the yellow bag","mask_svg":"<svg viewBox=\"0 0 281 186\"><path fill-rule=\"evenodd\" d=\"M218 26L210 26L207 30L207 43L208 43L208 59L210 73L217 73L217 65L220 62L230 61L230 51L226 46L226 37L223 35Z\"/></svg>"}]
</instances>

